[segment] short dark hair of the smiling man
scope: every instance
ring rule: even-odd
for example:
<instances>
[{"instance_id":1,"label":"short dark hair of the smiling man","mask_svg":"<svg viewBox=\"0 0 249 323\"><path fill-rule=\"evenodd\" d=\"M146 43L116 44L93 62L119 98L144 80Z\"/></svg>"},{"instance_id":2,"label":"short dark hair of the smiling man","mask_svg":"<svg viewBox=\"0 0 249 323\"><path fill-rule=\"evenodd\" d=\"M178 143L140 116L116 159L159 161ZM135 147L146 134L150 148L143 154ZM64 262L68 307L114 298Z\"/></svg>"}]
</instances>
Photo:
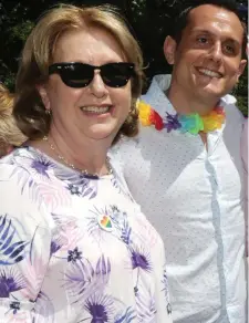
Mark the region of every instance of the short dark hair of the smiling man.
<instances>
[{"instance_id":1,"label":"short dark hair of the smiling man","mask_svg":"<svg viewBox=\"0 0 249 323\"><path fill-rule=\"evenodd\" d=\"M174 40L177 42L177 44L180 42L183 31L189 22L189 12L193 9L203 4L214 4L216 7L227 9L228 11L234 12L238 17L243 28L242 56L246 58L246 50L247 50L247 42L248 42L247 24L245 23L242 19L242 14L239 10L238 3L234 0L191 0L191 1L186 1L184 4L180 3L178 13L174 18L175 22L174 22L174 27L170 34L174 38ZM184 6L184 9L183 9L183 6Z\"/></svg>"}]
</instances>

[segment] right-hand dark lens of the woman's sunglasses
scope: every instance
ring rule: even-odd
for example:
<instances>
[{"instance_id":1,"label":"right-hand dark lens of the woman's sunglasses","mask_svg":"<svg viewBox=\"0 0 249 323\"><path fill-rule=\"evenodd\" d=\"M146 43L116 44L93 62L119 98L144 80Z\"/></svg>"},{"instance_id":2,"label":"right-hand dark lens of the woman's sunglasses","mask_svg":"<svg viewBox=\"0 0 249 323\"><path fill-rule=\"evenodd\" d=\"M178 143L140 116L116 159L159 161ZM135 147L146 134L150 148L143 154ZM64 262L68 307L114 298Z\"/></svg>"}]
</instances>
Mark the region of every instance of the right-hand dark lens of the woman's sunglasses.
<instances>
[{"instance_id":1,"label":"right-hand dark lens of the woman's sunglasses","mask_svg":"<svg viewBox=\"0 0 249 323\"><path fill-rule=\"evenodd\" d=\"M129 63L110 63L102 66L101 76L111 87L121 87L128 83L133 75L134 65Z\"/></svg>"}]
</instances>

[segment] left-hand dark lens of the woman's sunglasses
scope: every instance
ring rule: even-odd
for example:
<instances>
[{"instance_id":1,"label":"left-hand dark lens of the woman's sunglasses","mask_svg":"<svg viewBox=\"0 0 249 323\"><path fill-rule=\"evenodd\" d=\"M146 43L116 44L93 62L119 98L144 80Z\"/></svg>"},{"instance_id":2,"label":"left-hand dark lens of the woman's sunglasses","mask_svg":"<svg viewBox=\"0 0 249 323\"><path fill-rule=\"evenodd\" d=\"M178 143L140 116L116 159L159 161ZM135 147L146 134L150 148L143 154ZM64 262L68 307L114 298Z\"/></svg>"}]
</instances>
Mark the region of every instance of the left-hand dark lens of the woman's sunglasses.
<instances>
[{"instance_id":1,"label":"left-hand dark lens of the woman's sunglasses","mask_svg":"<svg viewBox=\"0 0 249 323\"><path fill-rule=\"evenodd\" d=\"M93 69L82 63L69 64L61 71L62 81L71 87L87 86L93 80Z\"/></svg>"}]
</instances>

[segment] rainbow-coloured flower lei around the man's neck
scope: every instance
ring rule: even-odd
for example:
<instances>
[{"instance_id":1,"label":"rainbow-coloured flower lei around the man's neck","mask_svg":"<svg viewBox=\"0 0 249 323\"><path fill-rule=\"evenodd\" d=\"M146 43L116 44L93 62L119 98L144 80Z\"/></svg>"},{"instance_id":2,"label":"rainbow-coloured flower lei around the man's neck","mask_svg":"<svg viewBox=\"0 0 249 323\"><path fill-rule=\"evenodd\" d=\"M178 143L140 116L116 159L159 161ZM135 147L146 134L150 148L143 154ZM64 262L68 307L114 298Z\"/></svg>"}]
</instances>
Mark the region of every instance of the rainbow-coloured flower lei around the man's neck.
<instances>
[{"instance_id":1,"label":"rainbow-coloured flower lei around the man's neck","mask_svg":"<svg viewBox=\"0 0 249 323\"><path fill-rule=\"evenodd\" d=\"M137 108L143 126L154 125L157 131L166 128L167 133L179 129L181 133L197 135L199 132L208 133L219 129L225 122L222 106L216 106L207 116L200 116L197 113L189 115L166 113L165 119L144 101L138 102Z\"/></svg>"}]
</instances>

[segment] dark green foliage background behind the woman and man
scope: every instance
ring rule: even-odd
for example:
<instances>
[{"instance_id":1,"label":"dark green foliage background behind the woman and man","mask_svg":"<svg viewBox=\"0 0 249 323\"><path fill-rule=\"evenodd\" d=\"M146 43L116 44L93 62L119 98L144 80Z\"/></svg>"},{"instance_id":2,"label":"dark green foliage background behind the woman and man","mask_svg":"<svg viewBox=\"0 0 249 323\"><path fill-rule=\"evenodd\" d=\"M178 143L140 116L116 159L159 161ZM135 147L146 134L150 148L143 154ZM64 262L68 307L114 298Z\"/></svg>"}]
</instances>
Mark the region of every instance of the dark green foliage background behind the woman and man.
<instances>
[{"instance_id":1,"label":"dark green foliage background behind the woman and man","mask_svg":"<svg viewBox=\"0 0 249 323\"><path fill-rule=\"evenodd\" d=\"M183 8L185 0L0 0L0 81L14 90L14 77L21 49L39 15L56 3L117 6L126 15L131 30L143 49L147 84L153 75L170 73L163 55L165 37L170 33L172 18ZM247 1L237 1L248 6ZM245 12L247 22L247 12ZM248 115L248 70L234 91L238 105Z\"/></svg>"}]
</instances>

